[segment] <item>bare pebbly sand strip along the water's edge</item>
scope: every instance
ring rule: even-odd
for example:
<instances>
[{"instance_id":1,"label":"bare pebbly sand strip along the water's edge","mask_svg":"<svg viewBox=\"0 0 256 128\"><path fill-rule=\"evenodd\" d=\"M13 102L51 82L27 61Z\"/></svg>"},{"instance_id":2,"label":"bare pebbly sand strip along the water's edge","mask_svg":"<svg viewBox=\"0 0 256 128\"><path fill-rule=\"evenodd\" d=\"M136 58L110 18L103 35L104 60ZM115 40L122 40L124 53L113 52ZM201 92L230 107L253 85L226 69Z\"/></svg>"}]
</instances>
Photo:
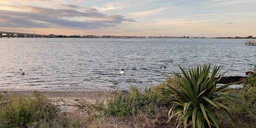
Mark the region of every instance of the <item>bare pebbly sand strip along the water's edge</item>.
<instances>
[{"instance_id":1,"label":"bare pebbly sand strip along the water's edge","mask_svg":"<svg viewBox=\"0 0 256 128\"><path fill-rule=\"evenodd\" d=\"M33 96L33 90L0 90L2 95L17 94ZM45 95L61 112L72 112L79 107L81 102L96 102L109 98L113 91L38 91Z\"/></svg>"}]
</instances>

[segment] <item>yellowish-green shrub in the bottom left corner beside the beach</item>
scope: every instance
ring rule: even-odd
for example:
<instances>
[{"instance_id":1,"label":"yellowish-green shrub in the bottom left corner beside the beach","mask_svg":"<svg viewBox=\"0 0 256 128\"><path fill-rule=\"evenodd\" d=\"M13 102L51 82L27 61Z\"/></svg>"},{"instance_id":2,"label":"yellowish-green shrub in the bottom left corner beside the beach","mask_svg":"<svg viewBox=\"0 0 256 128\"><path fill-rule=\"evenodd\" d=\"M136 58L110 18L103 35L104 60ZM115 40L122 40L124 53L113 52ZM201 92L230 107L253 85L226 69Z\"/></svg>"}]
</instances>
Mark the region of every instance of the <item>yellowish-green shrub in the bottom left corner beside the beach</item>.
<instances>
[{"instance_id":1,"label":"yellowish-green shrub in the bottom left corner beside the beach","mask_svg":"<svg viewBox=\"0 0 256 128\"><path fill-rule=\"evenodd\" d=\"M37 127L57 115L57 108L45 96L34 92L34 98L24 95L0 95L0 127Z\"/></svg>"}]
</instances>

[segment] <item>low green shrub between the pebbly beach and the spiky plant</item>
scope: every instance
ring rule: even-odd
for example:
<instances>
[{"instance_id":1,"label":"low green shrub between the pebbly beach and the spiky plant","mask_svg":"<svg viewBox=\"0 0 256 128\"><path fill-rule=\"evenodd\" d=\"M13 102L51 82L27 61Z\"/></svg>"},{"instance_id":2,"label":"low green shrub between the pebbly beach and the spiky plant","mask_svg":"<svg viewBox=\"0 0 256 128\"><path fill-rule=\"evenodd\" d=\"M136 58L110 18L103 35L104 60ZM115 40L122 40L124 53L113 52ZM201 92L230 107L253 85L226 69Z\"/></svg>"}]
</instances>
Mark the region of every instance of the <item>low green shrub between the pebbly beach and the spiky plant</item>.
<instances>
[{"instance_id":1,"label":"low green shrub between the pebbly beach and the spiky plant","mask_svg":"<svg viewBox=\"0 0 256 128\"><path fill-rule=\"evenodd\" d=\"M130 85L129 92L117 91L107 100L106 105L100 102L93 107L101 111L101 114L123 117L136 115L139 111L153 113L155 103L160 103L160 98L153 91L141 92L137 87Z\"/></svg>"}]
</instances>

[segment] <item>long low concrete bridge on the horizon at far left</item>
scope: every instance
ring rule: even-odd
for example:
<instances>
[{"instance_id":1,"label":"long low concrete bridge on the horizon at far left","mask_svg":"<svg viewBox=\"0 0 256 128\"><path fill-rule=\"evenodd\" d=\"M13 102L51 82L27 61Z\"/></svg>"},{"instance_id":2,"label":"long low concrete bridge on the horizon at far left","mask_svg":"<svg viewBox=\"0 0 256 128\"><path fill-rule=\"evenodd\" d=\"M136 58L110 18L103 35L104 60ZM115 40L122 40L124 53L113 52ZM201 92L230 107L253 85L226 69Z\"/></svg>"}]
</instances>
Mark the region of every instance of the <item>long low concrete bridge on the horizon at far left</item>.
<instances>
[{"instance_id":1,"label":"long low concrete bridge on the horizon at far left","mask_svg":"<svg viewBox=\"0 0 256 128\"><path fill-rule=\"evenodd\" d=\"M0 31L0 37L2 37L2 34L6 34L6 37L56 37L55 35Z\"/></svg>"}]
</instances>

